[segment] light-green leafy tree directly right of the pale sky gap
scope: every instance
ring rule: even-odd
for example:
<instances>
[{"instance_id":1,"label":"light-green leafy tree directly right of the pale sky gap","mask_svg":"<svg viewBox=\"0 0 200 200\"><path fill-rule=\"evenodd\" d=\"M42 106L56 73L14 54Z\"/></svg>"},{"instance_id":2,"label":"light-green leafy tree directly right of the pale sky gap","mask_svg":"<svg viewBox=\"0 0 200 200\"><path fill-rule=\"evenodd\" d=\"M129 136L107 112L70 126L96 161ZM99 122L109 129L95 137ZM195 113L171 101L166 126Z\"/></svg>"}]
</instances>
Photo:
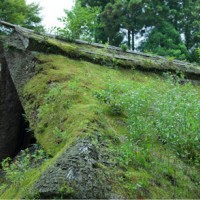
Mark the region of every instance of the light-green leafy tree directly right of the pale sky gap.
<instances>
[{"instance_id":1,"label":"light-green leafy tree directly right of the pale sky gap","mask_svg":"<svg viewBox=\"0 0 200 200\"><path fill-rule=\"evenodd\" d=\"M70 40L94 41L95 31L100 27L97 20L99 13L99 8L81 7L77 2L71 11L65 10L66 16L60 19L64 28L58 28L58 34Z\"/></svg>"}]
</instances>

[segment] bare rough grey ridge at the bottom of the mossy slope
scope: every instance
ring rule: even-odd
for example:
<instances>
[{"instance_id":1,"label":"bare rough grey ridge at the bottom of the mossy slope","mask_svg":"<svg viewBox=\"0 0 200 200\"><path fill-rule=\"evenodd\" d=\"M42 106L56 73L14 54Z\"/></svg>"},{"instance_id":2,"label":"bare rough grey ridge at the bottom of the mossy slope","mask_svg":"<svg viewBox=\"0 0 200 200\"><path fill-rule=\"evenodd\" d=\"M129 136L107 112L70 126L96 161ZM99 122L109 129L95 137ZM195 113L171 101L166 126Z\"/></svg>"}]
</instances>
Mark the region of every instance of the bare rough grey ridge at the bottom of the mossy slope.
<instances>
[{"instance_id":1,"label":"bare rough grey ridge at the bottom of the mossy slope","mask_svg":"<svg viewBox=\"0 0 200 200\"><path fill-rule=\"evenodd\" d=\"M35 188L40 198L119 198L112 192L114 175L105 170L114 164L109 161L102 139L96 137L103 146L93 144L90 137L79 140L42 175Z\"/></svg>"}]
</instances>

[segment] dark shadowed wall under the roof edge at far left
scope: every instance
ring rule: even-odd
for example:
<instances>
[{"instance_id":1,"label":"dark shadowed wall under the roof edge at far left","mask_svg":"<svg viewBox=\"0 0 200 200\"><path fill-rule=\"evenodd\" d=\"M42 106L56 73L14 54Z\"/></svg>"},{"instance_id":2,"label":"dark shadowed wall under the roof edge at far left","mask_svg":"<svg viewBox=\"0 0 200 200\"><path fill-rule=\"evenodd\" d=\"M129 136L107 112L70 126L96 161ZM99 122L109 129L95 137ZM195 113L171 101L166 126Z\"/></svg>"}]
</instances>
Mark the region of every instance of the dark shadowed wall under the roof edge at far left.
<instances>
[{"instance_id":1,"label":"dark shadowed wall under the roof edge at far left","mask_svg":"<svg viewBox=\"0 0 200 200\"><path fill-rule=\"evenodd\" d=\"M26 147L30 134L26 133L24 113L12 81L3 47L0 45L0 160L14 156Z\"/></svg>"}]
</instances>

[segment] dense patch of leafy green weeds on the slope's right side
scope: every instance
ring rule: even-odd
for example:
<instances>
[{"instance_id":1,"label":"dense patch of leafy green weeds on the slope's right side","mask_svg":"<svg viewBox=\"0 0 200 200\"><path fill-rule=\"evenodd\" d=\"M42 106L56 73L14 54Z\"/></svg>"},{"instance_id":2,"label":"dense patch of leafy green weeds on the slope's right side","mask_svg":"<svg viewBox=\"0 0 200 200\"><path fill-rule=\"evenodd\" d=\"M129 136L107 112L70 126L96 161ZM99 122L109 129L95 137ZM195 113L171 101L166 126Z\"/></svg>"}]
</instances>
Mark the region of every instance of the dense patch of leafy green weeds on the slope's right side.
<instances>
[{"instance_id":1,"label":"dense patch of leafy green weeds on the slope's right side","mask_svg":"<svg viewBox=\"0 0 200 200\"><path fill-rule=\"evenodd\" d=\"M199 95L190 84L181 86L174 82L179 80L177 77L168 77L165 92L157 89L156 83L141 86L134 91L119 83L109 84L96 97L106 103L109 109L114 104L124 111L129 127L128 141L142 152L139 159L144 156L148 160L149 145L154 138L183 161L198 166ZM129 158L135 161L135 156Z\"/></svg>"}]
</instances>

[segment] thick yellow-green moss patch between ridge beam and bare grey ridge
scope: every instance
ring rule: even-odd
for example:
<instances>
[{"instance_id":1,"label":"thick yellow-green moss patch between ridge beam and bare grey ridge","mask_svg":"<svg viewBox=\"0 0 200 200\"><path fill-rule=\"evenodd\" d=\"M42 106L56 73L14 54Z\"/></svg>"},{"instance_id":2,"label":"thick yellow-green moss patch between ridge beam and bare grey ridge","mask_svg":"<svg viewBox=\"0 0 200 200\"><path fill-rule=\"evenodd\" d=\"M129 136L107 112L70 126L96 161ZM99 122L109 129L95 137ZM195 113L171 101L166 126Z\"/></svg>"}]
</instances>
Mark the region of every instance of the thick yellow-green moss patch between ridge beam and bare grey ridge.
<instances>
[{"instance_id":1,"label":"thick yellow-green moss patch between ridge beam and bare grey ridge","mask_svg":"<svg viewBox=\"0 0 200 200\"><path fill-rule=\"evenodd\" d=\"M84 132L91 132L89 129L94 129L88 126L91 121L102 121L106 110L103 105L99 107L94 92L105 87L105 80L143 76L138 72L129 74L62 56L41 54L38 59L42 63L38 66L40 71L24 89L24 97L28 100L25 109L29 118L32 111L37 110L37 120L31 120L31 126L38 142L52 155L66 143L65 140L57 140L55 127L70 133L69 141L70 137L73 140ZM90 128L85 131L87 126Z\"/></svg>"}]
</instances>

